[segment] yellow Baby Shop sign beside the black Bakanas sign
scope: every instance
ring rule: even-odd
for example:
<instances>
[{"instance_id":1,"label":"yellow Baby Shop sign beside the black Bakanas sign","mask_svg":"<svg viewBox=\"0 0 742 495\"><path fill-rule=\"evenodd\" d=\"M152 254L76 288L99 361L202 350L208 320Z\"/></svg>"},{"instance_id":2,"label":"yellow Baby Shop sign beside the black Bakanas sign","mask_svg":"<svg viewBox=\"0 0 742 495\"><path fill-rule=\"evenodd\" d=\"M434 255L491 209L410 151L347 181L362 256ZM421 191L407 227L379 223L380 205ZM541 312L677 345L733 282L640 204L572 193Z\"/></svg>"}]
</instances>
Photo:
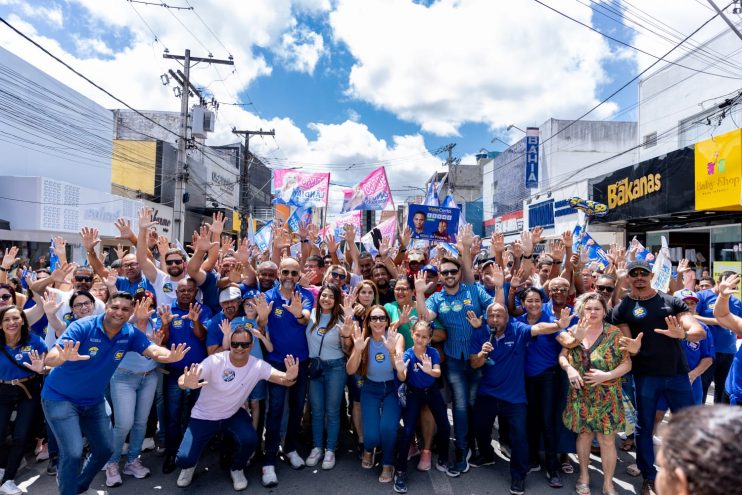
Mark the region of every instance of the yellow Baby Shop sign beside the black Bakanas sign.
<instances>
[{"instance_id":1,"label":"yellow Baby Shop sign beside the black Bakanas sign","mask_svg":"<svg viewBox=\"0 0 742 495\"><path fill-rule=\"evenodd\" d=\"M742 210L742 129L695 148L696 210Z\"/></svg>"}]
</instances>

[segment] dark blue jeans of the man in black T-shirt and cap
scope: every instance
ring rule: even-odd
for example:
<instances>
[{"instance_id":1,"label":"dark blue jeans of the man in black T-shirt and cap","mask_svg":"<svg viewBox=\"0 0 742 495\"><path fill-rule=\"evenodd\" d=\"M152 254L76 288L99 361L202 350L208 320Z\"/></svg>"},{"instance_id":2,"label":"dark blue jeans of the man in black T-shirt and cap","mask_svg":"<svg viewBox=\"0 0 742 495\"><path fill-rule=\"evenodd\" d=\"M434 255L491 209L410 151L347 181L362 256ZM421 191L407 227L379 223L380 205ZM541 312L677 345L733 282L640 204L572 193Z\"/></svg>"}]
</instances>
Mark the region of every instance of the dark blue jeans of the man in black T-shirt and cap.
<instances>
[{"instance_id":1,"label":"dark blue jeans of the man in black T-shirt and cap","mask_svg":"<svg viewBox=\"0 0 742 495\"><path fill-rule=\"evenodd\" d=\"M657 476L654 467L654 416L660 396L667 398L670 410L675 413L693 405L693 391L686 373L674 376L636 376L636 464L645 480Z\"/></svg>"}]
</instances>

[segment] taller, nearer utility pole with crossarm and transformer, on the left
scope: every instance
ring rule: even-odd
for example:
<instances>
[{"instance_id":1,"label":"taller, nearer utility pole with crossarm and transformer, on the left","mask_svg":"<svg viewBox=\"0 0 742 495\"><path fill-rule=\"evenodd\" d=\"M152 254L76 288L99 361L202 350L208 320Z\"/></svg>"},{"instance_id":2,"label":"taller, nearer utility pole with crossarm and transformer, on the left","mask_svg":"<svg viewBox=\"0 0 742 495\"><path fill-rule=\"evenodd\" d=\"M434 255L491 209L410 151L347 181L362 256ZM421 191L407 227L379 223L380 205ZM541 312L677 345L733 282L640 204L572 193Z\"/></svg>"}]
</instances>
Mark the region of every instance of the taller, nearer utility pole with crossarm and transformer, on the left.
<instances>
[{"instance_id":1,"label":"taller, nearer utility pole with crossarm and transformer, on the left","mask_svg":"<svg viewBox=\"0 0 742 495\"><path fill-rule=\"evenodd\" d=\"M185 203L183 194L185 192L185 183L188 181L188 163L186 156L186 142L188 141L188 95L191 89L195 87L191 84L191 62L206 62L209 64L234 65L234 60L218 60L209 57L191 57L191 51L186 49L185 55L170 55L167 51L162 55L163 58L171 58L183 61L182 79L176 80L181 85L180 92L180 133L178 138L178 155L175 170L175 198L173 201L173 228L170 232L170 240L183 241L183 230L185 228ZM181 75L181 72L178 71ZM195 90L198 94L198 90ZM200 95L199 95L200 96Z\"/></svg>"}]
</instances>

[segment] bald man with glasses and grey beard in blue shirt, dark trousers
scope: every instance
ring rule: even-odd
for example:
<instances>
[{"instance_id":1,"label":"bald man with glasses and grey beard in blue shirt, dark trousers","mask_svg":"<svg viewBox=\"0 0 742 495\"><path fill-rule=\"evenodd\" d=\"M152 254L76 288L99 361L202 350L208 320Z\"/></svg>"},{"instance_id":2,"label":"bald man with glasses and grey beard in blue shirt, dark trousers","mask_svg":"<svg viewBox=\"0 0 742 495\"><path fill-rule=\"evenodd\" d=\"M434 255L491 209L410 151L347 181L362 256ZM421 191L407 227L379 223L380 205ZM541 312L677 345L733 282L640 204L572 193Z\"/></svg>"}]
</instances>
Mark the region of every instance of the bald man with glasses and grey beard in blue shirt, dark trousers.
<instances>
[{"instance_id":1,"label":"bald man with glasses and grey beard in blue shirt, dark trousers","mask_svg":"<svg viewBox=\"0 0 742 495\"><path fill-rule=\"evenodd\" d=\"M306 327L309 314L314 306L311 292L298 285L301 275L299 262L291 257L284 258L279 268L280 285L265 294L269 306L267 319L259 315L258 326L268 331L273 341L273 351L266 361L279 371L286 371L284 358L292 355L299 361L299 375L296 383L288 388L273 383L268 384L268 412L265 425L265 461L263 464L263 486L278 484L276 477L276 456L281 443L281 419L288 392L289 418L283 451L294 469L305 466L304 459L296 452L299 444L301 417L307 393L307 366L309 347ZM267 321L266 321L267 320Z\"/></svg>"}]
</instances>

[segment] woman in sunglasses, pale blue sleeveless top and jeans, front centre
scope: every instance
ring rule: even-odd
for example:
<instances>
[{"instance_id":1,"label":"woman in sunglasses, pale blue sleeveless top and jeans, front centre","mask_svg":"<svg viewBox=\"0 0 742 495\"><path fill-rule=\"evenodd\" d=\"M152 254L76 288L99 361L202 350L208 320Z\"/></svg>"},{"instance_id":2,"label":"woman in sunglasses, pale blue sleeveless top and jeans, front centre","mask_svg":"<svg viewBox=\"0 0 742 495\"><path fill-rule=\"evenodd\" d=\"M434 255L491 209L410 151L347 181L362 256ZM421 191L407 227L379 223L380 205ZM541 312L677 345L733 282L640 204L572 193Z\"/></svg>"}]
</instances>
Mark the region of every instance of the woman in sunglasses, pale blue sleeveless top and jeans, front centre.
<instances>
[{"instance_id":1,"label":"woman in sunglasses, pale blue sleeveless top and jeans, front centre","mask_svg":"<svg viewBox=\"0 0 742 495\"><path fill-rule=\"evenodd\" d=\"M361 388L361 421L364 451L361 467L374 465L374 449L383 452L380 483L391 483L394 474L394 447L401 410L397 398L394 360L404 352L404 339L396 324L389 324L383 306L369 308L363 331L354 323L353 353L348 359L348 374L358 373Z\"/></svg>"}]
</instances>

